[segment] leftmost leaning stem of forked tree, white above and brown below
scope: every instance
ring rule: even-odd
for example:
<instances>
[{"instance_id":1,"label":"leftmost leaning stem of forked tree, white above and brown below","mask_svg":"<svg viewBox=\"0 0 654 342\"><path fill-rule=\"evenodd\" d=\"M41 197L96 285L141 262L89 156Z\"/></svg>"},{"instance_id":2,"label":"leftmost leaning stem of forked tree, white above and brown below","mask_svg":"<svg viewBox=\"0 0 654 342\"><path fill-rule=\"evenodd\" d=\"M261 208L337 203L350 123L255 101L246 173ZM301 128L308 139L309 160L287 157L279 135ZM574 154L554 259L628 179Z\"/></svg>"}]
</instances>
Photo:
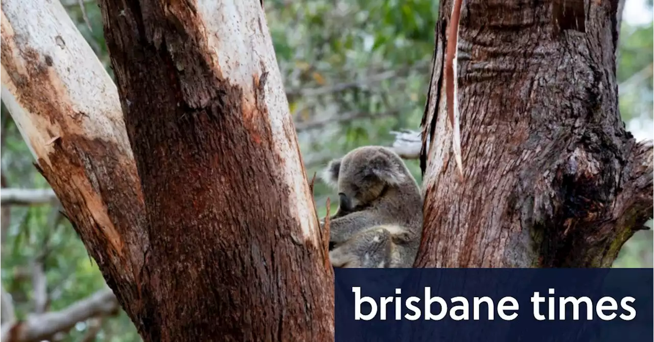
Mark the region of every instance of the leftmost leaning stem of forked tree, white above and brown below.
<instances>
[{"instance_id":1,"label":"leftmost leaning stem of forked tree, white above and brown below","mask_svg":"<svg viewBox=\"0 0 654 342\"><path fill-rule=\"evenodd\" d=\"M148 245L136 164L116 86L59 1L2 1L0 85L37 168L135 318Z\"/></svg>"}]
</instances>

